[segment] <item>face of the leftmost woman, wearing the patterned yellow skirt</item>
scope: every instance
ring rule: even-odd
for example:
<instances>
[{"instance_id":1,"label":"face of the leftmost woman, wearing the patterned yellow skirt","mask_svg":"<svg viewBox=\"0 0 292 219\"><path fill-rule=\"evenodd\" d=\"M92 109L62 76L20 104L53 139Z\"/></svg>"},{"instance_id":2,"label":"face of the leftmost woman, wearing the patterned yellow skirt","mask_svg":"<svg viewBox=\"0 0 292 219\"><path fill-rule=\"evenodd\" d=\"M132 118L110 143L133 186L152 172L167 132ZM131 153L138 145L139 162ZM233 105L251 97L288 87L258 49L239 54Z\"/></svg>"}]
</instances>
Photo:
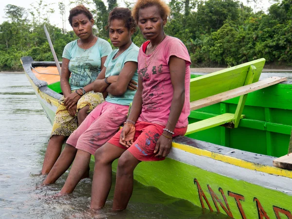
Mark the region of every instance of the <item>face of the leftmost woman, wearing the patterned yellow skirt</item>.
<instances>
[{"instance_id":1,"label":"face of the leftmost woman, wearing the patterned yellow skirt","mask_svg":"<svg viewBox=\"0 0 292 219\"><path fill-rule=\"evenodd\" d=\"M87 39L92 34L94 20L89 20L84 14L76 15L72 18L73 31L80 39Z\"/></svg>"}]
</instances>

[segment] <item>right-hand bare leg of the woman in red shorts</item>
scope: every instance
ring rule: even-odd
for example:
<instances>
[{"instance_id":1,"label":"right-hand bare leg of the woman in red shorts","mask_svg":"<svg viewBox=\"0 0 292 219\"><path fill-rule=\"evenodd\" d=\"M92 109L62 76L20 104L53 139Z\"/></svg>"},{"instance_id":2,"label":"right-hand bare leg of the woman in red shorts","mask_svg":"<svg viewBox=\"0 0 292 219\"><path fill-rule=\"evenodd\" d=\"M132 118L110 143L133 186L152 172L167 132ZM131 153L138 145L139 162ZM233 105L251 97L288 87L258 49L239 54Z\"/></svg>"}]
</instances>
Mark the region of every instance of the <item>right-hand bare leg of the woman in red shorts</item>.
<instances>
[{"instance_id":1,"label":"right-hand bare leg of the woman in red shorts","mask_svg":"<svg viewBox=\"0 0 292 219\"><path fill-rule=\"evenodd\" d=\"M133 192L134 169L140 162L128 151L125 151L120 157L112 210L119 211L127 208Z\"/></svg>"}]
</instances>

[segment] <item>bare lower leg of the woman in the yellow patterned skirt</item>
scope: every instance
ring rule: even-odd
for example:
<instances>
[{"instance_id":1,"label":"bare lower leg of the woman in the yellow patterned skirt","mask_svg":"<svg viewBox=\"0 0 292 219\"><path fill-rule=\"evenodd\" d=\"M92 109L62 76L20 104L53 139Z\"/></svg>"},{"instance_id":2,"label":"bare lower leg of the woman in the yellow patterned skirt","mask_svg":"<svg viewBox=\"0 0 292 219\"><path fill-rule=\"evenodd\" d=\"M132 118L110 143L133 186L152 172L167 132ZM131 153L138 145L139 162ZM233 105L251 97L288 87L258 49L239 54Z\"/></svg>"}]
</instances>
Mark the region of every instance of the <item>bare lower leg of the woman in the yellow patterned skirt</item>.
<instances>
[{"instance_id":1,"label":"bare lower leg of the woman in the yellow patterned skirt","mask_svg":"<svg viewBox=\"0 0 292 219\"><path fill-rule=\"evenodd\" d=\"M65 140L63 135L53 135L47 146L41 174L48 174L60 156L62 145Z\"/></svg>"}]
</instances>

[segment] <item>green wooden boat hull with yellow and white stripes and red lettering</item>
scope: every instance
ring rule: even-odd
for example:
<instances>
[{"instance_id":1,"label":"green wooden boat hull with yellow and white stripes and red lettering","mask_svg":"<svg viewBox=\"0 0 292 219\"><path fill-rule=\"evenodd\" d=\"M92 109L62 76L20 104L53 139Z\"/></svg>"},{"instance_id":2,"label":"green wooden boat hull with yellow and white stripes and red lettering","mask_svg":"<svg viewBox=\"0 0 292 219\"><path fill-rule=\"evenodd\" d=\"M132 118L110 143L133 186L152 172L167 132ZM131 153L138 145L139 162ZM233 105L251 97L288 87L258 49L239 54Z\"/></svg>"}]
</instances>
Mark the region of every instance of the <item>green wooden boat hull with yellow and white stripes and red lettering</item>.
<instances>
[{"instance_id":1,"label":"green wooden boat hull with yellow and white stripes and red lettering","mask_svg":"<svg viewBox=\"0 0 292 219\"><path fill-rule=\"evenodd\" d=\"M53 85L38 86L27 67L31 59L22 61L52 123L58 97L50 94ZM139 164L135 180L236 219L292 219L292 171L272 164L288 151L291 96L291 81L250 93L243 111L246 118L238 128L217 127L175 138L168 158ZM189 122L234 113L237 102L235 98L192 111ZM116 168L117 161L113 171Z\"/></svg>"}]
</instances>

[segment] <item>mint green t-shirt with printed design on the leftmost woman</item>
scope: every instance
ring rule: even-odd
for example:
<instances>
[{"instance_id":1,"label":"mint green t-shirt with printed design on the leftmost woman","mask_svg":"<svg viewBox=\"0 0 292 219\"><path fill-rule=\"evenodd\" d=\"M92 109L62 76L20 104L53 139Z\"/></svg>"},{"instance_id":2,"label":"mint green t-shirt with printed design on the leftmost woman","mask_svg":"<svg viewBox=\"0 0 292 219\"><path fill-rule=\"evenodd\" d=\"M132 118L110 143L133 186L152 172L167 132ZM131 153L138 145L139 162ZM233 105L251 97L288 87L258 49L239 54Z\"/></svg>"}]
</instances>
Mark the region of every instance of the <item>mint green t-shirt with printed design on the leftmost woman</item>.
<instances>
[{"instance_id":1,"label":"mint green t-shirt with printed design on the leftmost woman","mask_svg":"<svg viewBox=\"0 0 292 219\"><path fill-rule=\"evenodd\" d=\"M93 82L101 71L101 58L111 52L110 43L99 37L96 43L85 51L77 45L77 40L68 43L62 57L70 60L71 90L83 88Z\"/></svg>"}]
</instances>

